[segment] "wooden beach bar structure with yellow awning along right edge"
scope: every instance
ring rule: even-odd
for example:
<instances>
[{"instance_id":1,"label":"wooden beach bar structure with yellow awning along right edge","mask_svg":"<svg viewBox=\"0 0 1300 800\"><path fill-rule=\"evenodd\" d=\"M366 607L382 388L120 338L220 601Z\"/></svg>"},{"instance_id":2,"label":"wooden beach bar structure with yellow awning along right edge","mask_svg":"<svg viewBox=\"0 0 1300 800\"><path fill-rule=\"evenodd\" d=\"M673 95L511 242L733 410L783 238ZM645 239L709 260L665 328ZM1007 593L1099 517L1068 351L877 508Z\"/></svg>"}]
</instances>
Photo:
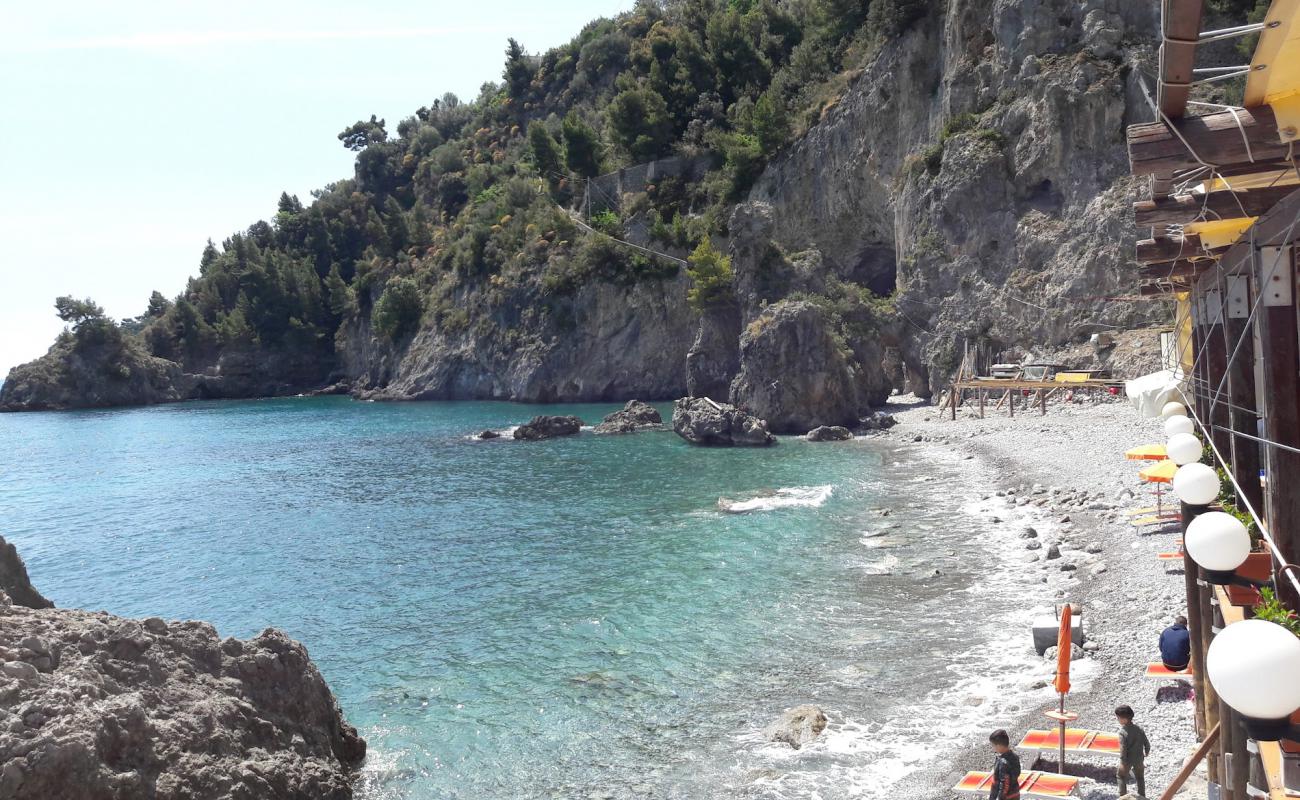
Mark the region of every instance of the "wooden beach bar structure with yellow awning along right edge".
<instances>
[{"instance_id":1,"label":"wooden beach bar structure with yellow awning along right edge","mask_svg":"<svg viewBox=\"0 0 1300 800\"><path fill-rule=\"evenodd\" d=\"M1148 86L1153 121L1127 130L1132 173L1141 178L1134 204L1144 233L1135 256L1139 294L1174 304L1188 414L1232 502L1262 532L1252 557L1262 559L1279 600L1300 610L1290 567L1300 562L1300 0L1273 0L1261 21L1216 30L1206 25L1208 5L1162 0L1162 44ZM1249 64L1197 66L1206 43L1252 39ZM1244 82L1240 105L1193 99L1199 86L1219 82ZM1287 769L1294 757L1286 751L1300 748L1284 738L1251 740L1244 718L1205 678L1214 636L1249 618L1257 593L1214 585L1186 555L1184 566L1197 754L1217 796L1300 796L1284 786L1284 773L1297 771Z\"/></svg>"}]
</instances>

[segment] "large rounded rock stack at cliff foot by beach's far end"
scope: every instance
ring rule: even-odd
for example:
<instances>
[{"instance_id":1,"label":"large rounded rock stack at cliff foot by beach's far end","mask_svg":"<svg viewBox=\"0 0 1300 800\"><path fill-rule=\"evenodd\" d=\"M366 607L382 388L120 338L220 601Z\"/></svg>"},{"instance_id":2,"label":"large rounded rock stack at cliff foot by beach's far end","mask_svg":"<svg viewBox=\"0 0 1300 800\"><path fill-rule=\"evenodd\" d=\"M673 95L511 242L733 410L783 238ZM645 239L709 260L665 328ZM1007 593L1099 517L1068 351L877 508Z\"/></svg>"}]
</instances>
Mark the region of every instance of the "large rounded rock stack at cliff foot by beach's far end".
<instances>
[{"instance_id":1,"label":"large rounded rock stack at cliff foot by beach's far end","mask_svg":"<svg viewBox=\"0 0 1300 800\"><path fill-rule=\"evenodd\" d=\"M768 307L741 334L732 403L776 433L858 421L858 386L826 313L807 300Z\"/></svg>"}]
</instances>

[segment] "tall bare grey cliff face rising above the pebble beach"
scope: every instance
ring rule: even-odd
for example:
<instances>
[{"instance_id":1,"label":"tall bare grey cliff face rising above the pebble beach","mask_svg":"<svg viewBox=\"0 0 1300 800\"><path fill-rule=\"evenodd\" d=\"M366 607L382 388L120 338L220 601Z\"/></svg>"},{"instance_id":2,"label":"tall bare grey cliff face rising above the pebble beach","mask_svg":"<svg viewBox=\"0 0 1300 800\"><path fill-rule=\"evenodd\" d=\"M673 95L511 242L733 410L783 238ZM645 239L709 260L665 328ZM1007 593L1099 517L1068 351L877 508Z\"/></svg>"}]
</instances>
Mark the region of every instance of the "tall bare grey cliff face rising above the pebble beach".
<instances>
[{"instance_id":1,"label":"tall bare grey cliff face rising above the pebble beach","mask_svg":"<svg viewBox=\"0 0 1300 800\"><path fill-rule=\"evenodd\" d=\"M1154 13L950 1L755 186L774 243L818 251L826 274L896 282L900 319L878 341L910 362L909 388L936 390L967 338L1052 349L1166 317L1108 299L1132 294L1123 130L1149 114L1135 68Z\"/></svg>"}]
</instances>

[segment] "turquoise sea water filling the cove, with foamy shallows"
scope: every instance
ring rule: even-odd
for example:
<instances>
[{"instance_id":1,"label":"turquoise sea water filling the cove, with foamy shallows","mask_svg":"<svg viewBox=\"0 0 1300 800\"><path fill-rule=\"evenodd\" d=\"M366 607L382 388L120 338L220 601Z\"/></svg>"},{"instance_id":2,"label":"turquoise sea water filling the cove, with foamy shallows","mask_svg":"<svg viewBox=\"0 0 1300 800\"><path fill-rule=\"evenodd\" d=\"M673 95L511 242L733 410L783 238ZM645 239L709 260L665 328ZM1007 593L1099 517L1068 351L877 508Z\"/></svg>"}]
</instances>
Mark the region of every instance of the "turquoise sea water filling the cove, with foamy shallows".
<instances>
[{"instance_id":1,"label":"turquoise sea water filling the cove, with foamy shallows","mask_svg":"<svg viewBox=\"0 0 1300 800\"><path fill-rule=\"evenodd\" d=\"M469 438L611 410L0 415L0 524L58 605L307 644L369 740L363 797L829 799L897 778L907 730L879 734L949 680L949 598L988 568L920 477L956 467L862 440ZM823 743L764 744L809 701Z\"/></svg>"}]
</instances>

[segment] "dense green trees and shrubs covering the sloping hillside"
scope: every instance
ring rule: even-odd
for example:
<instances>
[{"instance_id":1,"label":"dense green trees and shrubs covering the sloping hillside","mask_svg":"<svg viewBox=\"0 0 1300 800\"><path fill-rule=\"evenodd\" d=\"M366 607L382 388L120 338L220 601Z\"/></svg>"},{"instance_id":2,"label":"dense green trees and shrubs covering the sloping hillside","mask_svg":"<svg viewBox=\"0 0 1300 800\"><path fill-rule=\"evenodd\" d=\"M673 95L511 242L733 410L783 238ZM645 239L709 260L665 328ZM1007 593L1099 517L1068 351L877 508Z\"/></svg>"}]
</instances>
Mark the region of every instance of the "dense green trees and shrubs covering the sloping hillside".
<instances>
[{"instance_id":1,"label":"dense green trees and shrubs covering the sloping hillside","mask_svg":"<svg viewBox=\"0 0 1300 800\"><path fill-rule=\"evenodd\" d=\"M533 308L563 328L558 303L593 281L677 272L576 226L566 208L584 180L670 155L711 164L702 180L619 199L621 219L594 220L620 237L641 216L649 241L685 255L727 233L727 207L833 104L844 74L926 10L926 0L644 0L541 55L511 39L503 81L473 101L443 95L393 131L373 114L347 126L338 138L356 152L352 178L309 204L282 194L274 219L208 242L185 291L155 293L122 334L186 372L231 354L291 363L277 380L306 388L337 375L341 349L369 332L400 350L421 329L491 336L495 320ZM699 304L727 287L712 267Z\"/></svg>"}]
</instances>

